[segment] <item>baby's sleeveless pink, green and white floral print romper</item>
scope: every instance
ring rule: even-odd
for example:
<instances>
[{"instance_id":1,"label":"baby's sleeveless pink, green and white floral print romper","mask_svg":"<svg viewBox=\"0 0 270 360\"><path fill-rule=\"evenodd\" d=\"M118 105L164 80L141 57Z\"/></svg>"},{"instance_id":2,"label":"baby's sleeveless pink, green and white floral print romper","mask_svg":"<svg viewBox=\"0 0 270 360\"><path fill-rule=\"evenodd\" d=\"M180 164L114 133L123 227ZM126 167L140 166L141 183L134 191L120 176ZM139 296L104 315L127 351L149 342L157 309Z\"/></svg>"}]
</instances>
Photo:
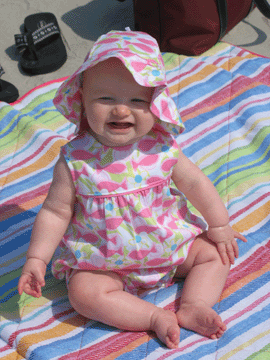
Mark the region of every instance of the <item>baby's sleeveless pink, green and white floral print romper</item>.
<instances>
[{"instance_id":1,"label":"baby's sleeveless pink, green and white floral print romper","mask_svg":"<svg viewBox=\"0 0 270 360\"><path fill-rule=\"evenodd\" d=\"M62 148L76 188L73 218L52 271L110 270L125 290L166 287L205 223L171 189L178 145L156 124L138 142L110 148L85 132Z\"/></svg>"}]
</instances>

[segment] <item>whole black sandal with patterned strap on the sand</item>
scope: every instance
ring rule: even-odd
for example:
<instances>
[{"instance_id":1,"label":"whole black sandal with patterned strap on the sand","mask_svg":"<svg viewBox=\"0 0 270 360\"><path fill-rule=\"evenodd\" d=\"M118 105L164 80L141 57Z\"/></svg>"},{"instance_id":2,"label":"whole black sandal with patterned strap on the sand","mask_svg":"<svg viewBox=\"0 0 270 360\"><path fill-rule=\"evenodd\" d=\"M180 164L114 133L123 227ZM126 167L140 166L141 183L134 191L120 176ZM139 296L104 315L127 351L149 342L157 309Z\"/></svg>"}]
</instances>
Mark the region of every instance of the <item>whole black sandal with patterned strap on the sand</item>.
<instances>
[{"instance_id":1,"label":"whole black sandal with patterned strap on the sand","mask_svg":"<svg viewBox=\"0 0 270 360\"><path fill-rule=\"evenodd\" d=\"M33 75L58 70L67 60L56 17L37 13L24 19L24 34L15 35L22 69Z\"/></svg>"}]
</instances>

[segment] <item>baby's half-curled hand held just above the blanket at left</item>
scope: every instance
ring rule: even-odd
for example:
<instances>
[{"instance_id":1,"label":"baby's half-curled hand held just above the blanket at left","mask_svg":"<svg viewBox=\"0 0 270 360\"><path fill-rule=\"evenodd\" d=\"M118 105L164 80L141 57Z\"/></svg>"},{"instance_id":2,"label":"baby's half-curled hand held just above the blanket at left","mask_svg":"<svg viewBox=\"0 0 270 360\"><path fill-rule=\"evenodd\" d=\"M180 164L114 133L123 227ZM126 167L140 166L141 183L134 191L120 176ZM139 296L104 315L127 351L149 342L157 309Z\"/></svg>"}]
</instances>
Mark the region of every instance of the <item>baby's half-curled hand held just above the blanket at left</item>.
<instances>
[{"instance_id":1,"label":"baby's half-curled hand held just above the blanket at left","mask_svg":"<svg viewBox=\"0 0 270 360\"><path fill-rule=\"evenodd\" d=\"M45 285L46 267L46 263L40 259L29 258L26 261L18 284L20 295L25 292L37 298L41 296L41 287Z\"/></svg>"}]
</instances>

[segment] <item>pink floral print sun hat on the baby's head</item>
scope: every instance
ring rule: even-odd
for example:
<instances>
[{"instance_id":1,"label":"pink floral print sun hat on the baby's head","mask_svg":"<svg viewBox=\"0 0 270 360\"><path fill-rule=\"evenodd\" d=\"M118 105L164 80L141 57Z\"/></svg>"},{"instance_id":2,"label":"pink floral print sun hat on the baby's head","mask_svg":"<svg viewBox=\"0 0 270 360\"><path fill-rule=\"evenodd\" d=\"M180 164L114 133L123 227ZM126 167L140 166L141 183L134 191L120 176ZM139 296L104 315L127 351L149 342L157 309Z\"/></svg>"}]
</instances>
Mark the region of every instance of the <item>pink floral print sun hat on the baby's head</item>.
<instances>
[{"instance_id":1,"label":"pink floral print sun hat on the baby's head","mask_svg":"<svg viewBox=\"0 0 270 360\"><path fill-rule=\"evenodd\" d=\"M97 63L116 57L142 86L155 87L150 104L151 112L165 131L178 135L184 130L175 102L170 96L164 62L156 40L150 35L131 31L110 31L95 42L83 65L58 89L53 100L56 108L72 123L77 131L82 120L82 73Z\"/></svg>"}]
</instances>

